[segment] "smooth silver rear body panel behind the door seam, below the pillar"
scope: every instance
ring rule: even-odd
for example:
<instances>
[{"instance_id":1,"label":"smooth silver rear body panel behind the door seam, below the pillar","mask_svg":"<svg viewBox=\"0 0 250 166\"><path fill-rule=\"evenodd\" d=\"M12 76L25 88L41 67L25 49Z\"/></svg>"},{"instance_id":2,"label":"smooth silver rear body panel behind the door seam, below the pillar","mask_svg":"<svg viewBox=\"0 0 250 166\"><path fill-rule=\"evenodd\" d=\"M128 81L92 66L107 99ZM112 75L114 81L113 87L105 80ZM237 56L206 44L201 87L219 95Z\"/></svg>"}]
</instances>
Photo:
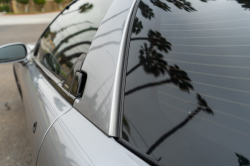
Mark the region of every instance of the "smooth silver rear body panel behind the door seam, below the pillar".
<instances>
[{"instance_id":1,"label":"smooth silver rear body panel behind the door seam, below the pillar","mask_svg":"<svg viewBox=\"0 0 250 166\"><path fill-rule=\"evenodd\" d=\"M37 166L148 166L72 108L50 128Z\"/></svg>"}]
</instances>

